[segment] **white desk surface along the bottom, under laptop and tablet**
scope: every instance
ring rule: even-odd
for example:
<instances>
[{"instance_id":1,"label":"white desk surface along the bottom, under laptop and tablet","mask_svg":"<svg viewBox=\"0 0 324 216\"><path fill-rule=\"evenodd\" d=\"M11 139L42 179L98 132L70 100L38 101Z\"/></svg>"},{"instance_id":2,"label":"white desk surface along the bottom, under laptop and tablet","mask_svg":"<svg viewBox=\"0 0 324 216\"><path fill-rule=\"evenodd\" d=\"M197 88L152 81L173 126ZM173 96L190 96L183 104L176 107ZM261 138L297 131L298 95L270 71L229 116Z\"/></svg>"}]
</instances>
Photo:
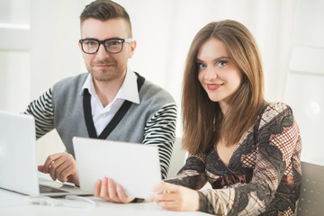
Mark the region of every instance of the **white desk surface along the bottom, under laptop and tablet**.
<instances>
[{"instance_id":1,"label":"white desk surface along the bottom, under laptop and tablet","mask_svg":"<svg viewBox=\"0 0 324 216\"><path fill-rule=\"evenodd\" d=\"M193 212L181 212L181 211L166 211L157 206L155 202L146 203L128 203L118 204L112 202L105 202L95 197L90 197L96 202L94 207L86 208L73 208L64 206L45 206L31 204L28 202L28 196L5 191L0 189L0 215L1 216L71 216L71 215L95 215L95 216L107 216L107 215L140 215L140 216L168 216L168 215L188 215L188 216L207 216L199 211ZM64 202L64 201L63 201Z\"/></svg>"}]
</instances>

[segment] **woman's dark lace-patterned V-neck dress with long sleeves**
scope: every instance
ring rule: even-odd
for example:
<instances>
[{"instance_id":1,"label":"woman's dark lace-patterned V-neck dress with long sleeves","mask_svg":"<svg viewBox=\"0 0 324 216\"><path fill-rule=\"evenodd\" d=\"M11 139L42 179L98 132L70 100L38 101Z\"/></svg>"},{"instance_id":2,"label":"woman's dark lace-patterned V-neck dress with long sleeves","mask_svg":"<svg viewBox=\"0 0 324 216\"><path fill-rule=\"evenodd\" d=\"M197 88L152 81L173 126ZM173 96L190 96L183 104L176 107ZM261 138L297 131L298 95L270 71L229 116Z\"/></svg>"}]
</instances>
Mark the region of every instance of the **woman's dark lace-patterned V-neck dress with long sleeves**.
<instances>
[{"instance_id":1,"label":"woman's dark lace-patterned V-neck dress with long sleeves","mask_svg":"<svg viewBox=\"0 0 324 216\"><path fill-rule=\"evenodd\" d=\"M271 103L235 148L226 166L215 148L190 155L166 182L199 190L200 211L215 215L294 215L301 180L302 141L292 109Z\"/></svg>"}]
</instances>

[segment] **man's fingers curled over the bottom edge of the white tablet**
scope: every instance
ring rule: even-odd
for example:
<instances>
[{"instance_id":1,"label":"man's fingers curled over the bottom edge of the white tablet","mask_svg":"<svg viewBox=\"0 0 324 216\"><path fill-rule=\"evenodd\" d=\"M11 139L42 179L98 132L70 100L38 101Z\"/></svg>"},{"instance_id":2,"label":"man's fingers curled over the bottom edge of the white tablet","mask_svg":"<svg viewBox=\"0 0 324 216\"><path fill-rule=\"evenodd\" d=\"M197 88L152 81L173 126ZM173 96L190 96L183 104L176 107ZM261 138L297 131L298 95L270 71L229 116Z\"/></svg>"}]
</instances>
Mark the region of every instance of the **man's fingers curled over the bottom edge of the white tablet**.
<instances>
[{"instance_id":1,"label":"man's fingers curled over the bottom edge of the white tablet","mask_svg":"<svg viewBox=\"0 0 324 216\"><path fill-rule=\"evenodd\" d=\"M114 184L112 178L104 177L98 180L94 185L94 196L100 197L109 202L128 203L134 200L134 197L125 195L121 184Z\"/></svg>"}]
</instances>

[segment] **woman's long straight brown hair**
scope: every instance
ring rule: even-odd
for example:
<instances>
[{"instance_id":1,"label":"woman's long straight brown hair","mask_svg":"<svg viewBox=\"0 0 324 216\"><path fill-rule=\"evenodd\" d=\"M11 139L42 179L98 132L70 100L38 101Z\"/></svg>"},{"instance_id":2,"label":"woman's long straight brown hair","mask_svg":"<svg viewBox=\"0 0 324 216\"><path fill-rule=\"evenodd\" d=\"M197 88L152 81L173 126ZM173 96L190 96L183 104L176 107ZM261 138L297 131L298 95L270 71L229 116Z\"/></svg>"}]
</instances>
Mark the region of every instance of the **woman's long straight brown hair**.
<instances>
[{"instance_id":1,"label":"woman's long straight brown hair","mask_svg":"<svg viewBox=\"0 0 324 216\"><path fill-rule=\"evenodd\" d=\"M198 80L197 53L210 38L224 43L229 58L243 73L238 91L229 98L226 117L219 103L210 100ZM243 24L231 20L204 26L193 39L184 67L183 148L190 154L205 153L220 136L229 146L238 143L257 120L264 103L263 68L251 32Z\"/></svg>"}]
</instances>

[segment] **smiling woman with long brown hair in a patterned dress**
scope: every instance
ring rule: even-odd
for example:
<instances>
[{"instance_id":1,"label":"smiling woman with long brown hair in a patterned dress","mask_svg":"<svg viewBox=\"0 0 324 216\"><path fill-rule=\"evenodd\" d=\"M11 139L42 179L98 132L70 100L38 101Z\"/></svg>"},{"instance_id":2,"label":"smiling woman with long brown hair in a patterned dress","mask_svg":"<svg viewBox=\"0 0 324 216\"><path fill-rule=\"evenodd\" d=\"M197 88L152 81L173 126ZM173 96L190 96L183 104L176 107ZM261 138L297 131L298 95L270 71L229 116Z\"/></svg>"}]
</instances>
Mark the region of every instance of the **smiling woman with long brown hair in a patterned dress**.
<instances>
[{"instance_id":1,"label":"smiling woman with long brown hair in a patterned dress","mask_svg":"<svg viewBox=\"0 0 324 216\"><path fill-rule=\"evenodd\" d=\"M217 215L293 215L302 178L292 109L264 99L257 43L241 23L209 23L184 69L183 148L174 179L150 197L168 210ZM212 189L198 191L206 182ZM164 193L158 193L164 192Z\"/></svg>"}]
</instances>

